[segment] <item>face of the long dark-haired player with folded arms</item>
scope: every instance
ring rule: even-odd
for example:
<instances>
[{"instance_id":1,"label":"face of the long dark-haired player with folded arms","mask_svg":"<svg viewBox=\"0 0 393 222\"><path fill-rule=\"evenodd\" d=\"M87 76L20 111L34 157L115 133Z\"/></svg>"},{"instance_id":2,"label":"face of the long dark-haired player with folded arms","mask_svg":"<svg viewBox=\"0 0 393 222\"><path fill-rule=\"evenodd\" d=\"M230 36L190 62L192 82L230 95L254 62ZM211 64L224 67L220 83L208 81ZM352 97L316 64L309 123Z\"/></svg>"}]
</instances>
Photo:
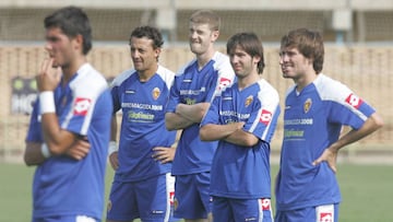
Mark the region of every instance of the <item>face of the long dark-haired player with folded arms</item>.
<instances>
[{"instance_id":1,"label":"face of the long dark-haired player with folded arms","mask_svg":"<svg viewBox=\"0 0 393 222\"><path fill-rule=\"evenodd\" d=\"M229 54L229 59L235 74L239 79L247 78L251 72L255 71L259 62L259 58L251 57L239 46Z\"/></svg>"}]
</instances>

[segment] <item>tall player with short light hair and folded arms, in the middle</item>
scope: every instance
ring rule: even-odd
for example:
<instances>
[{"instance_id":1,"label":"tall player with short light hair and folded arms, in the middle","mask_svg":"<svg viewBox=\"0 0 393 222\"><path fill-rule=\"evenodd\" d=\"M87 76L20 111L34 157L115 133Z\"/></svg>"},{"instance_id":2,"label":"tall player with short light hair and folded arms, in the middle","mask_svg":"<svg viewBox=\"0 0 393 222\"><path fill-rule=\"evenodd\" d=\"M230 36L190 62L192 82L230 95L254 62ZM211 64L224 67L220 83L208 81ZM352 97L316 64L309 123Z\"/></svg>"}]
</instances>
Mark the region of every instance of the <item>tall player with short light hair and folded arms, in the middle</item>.
<instances>
[{"instance_id":1,"label":"tall player with short light hair and folded arms, in the middle","mask_svg":"<svg viewBox=\"0 0 393 222\"><path fill-rule=\"evenodd\" d=\"M217 142L199 138L199 124L214 95L233 84L235 73L226 55L214 49L219 35L219 16L196 11L189 21L189 44L195 59L175 78L165 115L167 129L181 129L172 175L175 215L186 221L205 221L211 214L210 171Z\"/></svg>"}]
</instances>

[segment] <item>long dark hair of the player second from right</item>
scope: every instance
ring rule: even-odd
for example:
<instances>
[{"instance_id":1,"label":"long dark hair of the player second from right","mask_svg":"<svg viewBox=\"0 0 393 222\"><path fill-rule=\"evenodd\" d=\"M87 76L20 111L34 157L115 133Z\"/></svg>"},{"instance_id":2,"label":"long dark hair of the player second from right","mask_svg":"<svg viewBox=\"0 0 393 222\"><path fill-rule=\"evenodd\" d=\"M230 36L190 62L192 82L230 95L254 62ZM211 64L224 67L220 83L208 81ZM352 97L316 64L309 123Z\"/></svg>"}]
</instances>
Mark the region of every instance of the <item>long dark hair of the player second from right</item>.
<instances>
[{"instance_id":1,"label":"long dark hair of the player second from right","mask_svg":"<svg viewBox=\"0 0 393 222\"><path fill-rule=\"evenodd\" d=\"M261 60L257 65L258 73L263 72L264 56L263 56L263 46L255 33L238 33L233 35L227 42L227 54L234 54L236 47L240 47L251 57L260 57Z\"/></svg>"}]
</instances>

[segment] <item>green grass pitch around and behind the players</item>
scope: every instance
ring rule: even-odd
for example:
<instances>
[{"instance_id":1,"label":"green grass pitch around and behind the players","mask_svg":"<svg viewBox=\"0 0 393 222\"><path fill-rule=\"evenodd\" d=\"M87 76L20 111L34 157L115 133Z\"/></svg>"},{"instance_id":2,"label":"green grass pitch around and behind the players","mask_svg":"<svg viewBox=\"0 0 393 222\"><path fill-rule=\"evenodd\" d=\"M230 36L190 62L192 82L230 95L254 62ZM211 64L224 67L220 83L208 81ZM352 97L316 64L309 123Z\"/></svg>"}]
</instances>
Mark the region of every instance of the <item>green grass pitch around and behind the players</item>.
<instances>
[{"instance_id":1,"label":"green grass pitch around and behind the players","mask_svg":"<svg viewBox=\"0 0 393 222\"><path fill-rule=\"evenodd\" d=\"M277 172L273 165L272 175ZM0 222L27 222L32 213L34 167L0 163ZM114 172L108 168L107 191ZM393 166L341 164L337 173L343 196L341 222L393 221ZM274 201L274 198L273 198Z\"/></svg>"}]
</instances>

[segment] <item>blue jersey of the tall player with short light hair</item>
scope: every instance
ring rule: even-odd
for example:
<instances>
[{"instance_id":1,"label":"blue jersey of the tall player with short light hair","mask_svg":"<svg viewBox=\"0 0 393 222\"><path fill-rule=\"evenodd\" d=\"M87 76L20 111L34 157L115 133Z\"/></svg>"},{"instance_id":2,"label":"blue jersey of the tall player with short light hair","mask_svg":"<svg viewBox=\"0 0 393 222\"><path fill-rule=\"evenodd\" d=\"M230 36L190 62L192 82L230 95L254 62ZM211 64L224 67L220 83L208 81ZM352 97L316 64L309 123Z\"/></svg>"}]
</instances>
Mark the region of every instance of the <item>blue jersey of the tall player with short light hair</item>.
<instances>
[{"instance_id":1,"label":"blue jersey of the tall player with short light hair","mask_svg":"<svg viewBox=\"0 0 393 222\"><path fill-rule=\"evenodd\" d=\"M167 112L175 113L178 104L211 103L215 95L234 83L234 79L229 58L222 52L215 52L201 70L196 60L192 60L175 78ZM199 124L183 129L172 163L172 175L210 172L216 147L216 141L201 141Z\"/></svg>"}]
</instances>

